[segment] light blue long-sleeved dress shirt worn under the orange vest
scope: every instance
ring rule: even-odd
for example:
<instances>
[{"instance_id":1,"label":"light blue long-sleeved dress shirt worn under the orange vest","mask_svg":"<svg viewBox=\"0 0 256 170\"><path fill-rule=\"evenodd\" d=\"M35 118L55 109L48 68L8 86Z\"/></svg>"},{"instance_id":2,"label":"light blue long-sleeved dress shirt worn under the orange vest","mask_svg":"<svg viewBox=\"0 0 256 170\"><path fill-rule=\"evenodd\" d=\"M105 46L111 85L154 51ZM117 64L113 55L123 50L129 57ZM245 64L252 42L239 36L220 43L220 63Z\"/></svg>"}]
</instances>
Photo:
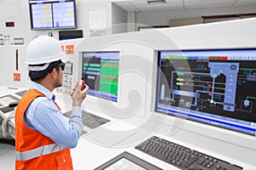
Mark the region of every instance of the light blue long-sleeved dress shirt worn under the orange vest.
<instances>
[{"instance_id":1,"label":"light blue long-sleeved dress shirt worn under the orange vest","mask_svg":"<svg viewBox=\"0 0 256 170\"><path fill-rule=\"evenodd\" d=\"M43 133L56 144L66 148L74 148L83 131L82 110L79 106L73 107L70 119L62 115L47 88L32 82L30 88L36 89L46 97L34 99L28 106L25 114L25 123L28 127Z\"/></svg>"}]
</instances>

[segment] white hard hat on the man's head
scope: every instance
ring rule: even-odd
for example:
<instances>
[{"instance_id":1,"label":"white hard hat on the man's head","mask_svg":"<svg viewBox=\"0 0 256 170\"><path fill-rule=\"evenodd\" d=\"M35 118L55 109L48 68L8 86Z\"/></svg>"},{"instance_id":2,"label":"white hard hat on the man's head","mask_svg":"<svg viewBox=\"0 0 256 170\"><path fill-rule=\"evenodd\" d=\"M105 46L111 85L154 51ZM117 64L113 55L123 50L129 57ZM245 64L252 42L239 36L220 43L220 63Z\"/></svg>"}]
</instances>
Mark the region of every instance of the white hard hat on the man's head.
<instances>
[{"instance_id":1,"label":"white hard hat on the man's head","mask_svg":"<svg viewBox=\"0 0 256 170\"><path fill-rule=\"evenodd\" d=\"M26 48L26 64L28 65L40 65L66 57L62 52L61 44L54 37L36 37Z\"/></svg>"}]
</instances>

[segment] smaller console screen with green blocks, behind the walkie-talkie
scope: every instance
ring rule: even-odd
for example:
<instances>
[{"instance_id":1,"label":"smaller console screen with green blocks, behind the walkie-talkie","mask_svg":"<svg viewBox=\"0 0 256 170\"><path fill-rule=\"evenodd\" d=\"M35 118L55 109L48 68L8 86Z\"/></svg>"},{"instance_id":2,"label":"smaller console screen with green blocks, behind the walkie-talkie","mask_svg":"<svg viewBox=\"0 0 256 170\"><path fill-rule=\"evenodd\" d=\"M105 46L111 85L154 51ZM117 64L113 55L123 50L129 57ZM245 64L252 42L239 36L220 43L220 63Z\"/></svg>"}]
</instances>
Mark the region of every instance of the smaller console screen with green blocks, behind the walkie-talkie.
<instances>
[{"instance_id":1,"label":"smaller console screen with green blocks, behind the walkie-talkie","mask_svg":"<svg viewBox=\"0 0 256 170\"><path fill-rule=\"evenodd\" d=\"M82 75L90 87L88 94L117 101L119 52L84 52Z\"/></svg>"}]
</instances>

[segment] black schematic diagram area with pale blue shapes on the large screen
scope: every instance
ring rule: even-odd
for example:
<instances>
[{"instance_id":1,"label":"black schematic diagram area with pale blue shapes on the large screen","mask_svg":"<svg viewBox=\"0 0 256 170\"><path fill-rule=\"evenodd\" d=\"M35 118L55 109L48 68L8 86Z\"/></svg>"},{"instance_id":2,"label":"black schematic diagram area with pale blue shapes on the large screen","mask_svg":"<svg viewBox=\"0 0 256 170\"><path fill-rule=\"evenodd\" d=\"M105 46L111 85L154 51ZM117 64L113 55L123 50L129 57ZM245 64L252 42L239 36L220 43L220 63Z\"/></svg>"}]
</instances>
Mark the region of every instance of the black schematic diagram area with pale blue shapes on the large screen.
<instances>
[{"instance_id":1,"label":"black schematic diagram area with pale blue shapes on the large screen","mask_svg":"<svg viewBox=\"0 0 256 170\"><path fill-rule=\"evenodd\" d=\"M159 100L163 105L217 115L253 114L256 71L252 61L161 59L165 75Z\"/></svg>"}]
</instances>

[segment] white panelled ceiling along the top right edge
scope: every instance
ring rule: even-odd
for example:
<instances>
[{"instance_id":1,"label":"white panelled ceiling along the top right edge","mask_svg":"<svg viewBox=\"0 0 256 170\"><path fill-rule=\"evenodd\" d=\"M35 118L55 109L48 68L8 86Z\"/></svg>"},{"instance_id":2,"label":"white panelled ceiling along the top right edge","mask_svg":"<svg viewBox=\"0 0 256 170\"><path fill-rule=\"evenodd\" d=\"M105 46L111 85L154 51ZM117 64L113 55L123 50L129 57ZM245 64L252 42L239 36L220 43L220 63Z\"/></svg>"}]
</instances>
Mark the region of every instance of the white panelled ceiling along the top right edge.
<instances>
[{"instance_id":1,"label":"white panelled ceiling along the top right edge","mask_svg":"<svg viewBox=\"0 0 256 170\"><path fill-rule=\"evenodd\" d=\"M153 2L149 4L148 1L166 1L166 3ZM126 11L136 12L256 5L256 0L113 0L112 2Z\"/></svg>"}]
</instances>

